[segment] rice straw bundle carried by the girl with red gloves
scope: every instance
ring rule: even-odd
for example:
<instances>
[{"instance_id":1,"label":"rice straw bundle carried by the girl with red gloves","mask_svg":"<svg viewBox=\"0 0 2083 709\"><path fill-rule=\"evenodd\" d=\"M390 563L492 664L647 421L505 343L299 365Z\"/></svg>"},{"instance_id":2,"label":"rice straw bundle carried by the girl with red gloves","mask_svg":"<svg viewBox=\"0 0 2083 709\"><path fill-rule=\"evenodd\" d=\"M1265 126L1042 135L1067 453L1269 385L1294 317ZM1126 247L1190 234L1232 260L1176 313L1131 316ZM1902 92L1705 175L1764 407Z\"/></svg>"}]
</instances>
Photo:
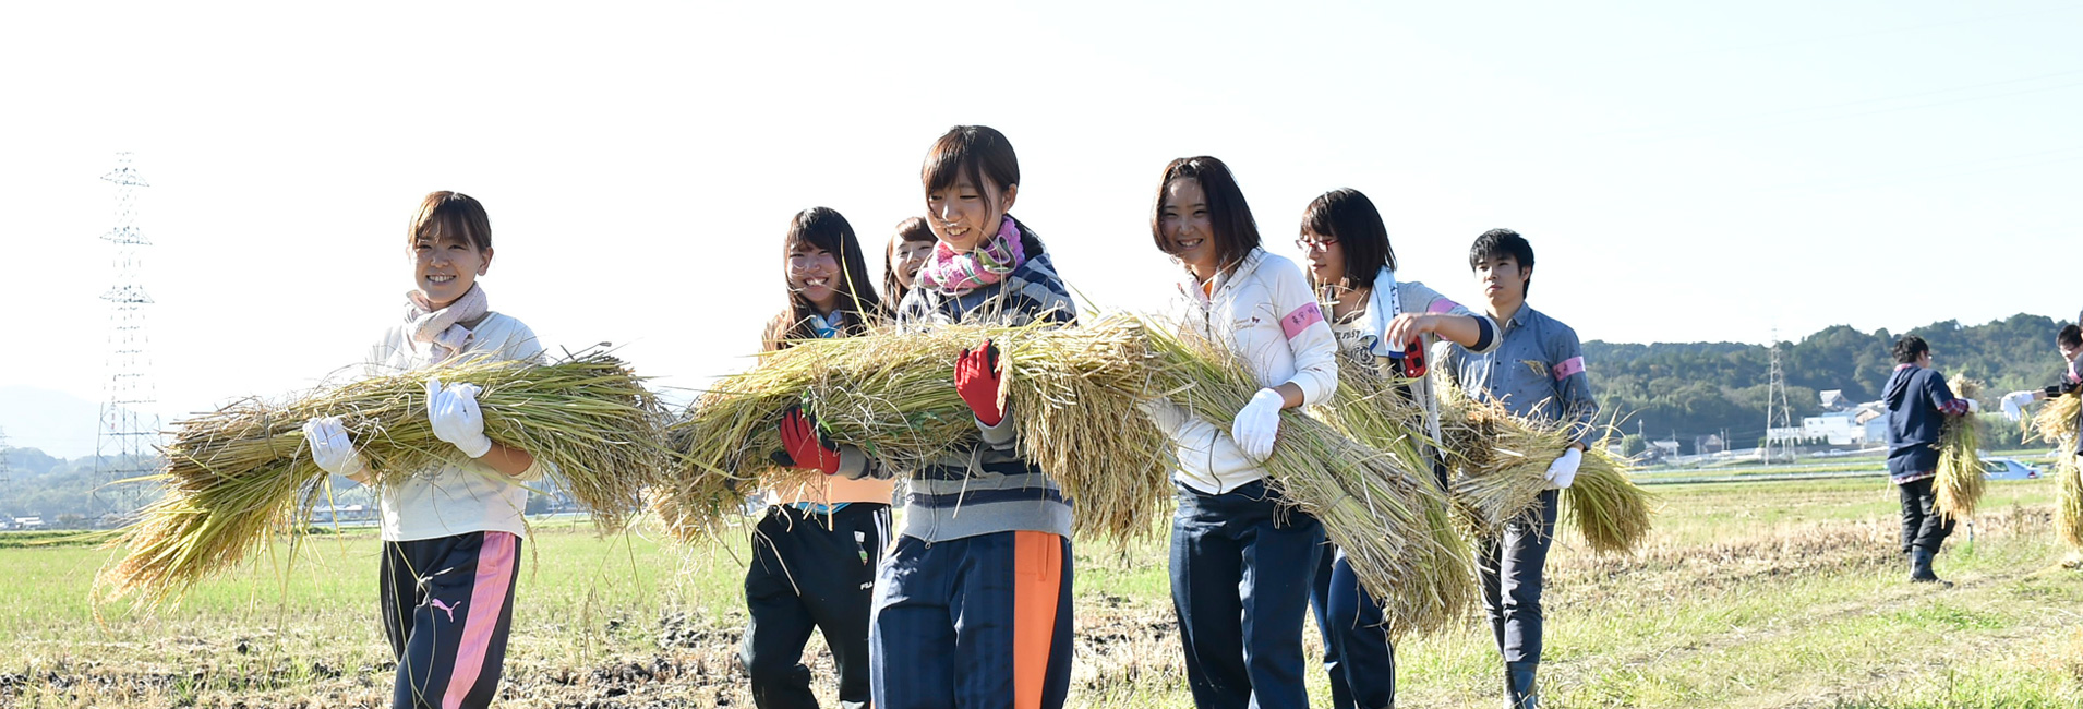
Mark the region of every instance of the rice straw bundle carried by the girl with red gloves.
<instances>
[{"instance_id":1,"label":"rice straw bundle carried by the girl with red gloves","mask_svg":"<svg viewBox=\"0 0 2083 709\"><path fill-rule=\"evenodd\" d=\"M954 361L992 340L1000 350L1006 411L1019 453L1073 500L1075 534L1148 536L1169 500L1164 436L1137 409L1152 396L1152 354L1133 317L1083 327L944 325L804 340L760 354L752 371L719 380L673 425L679 465L654 509L679 540L714 536L735 490L785 488L802 471L769 465L781 450L789 407L810 413L833 442L912 471L977 444L975 415L954 390Z\"/></svg>"}]
</instances>

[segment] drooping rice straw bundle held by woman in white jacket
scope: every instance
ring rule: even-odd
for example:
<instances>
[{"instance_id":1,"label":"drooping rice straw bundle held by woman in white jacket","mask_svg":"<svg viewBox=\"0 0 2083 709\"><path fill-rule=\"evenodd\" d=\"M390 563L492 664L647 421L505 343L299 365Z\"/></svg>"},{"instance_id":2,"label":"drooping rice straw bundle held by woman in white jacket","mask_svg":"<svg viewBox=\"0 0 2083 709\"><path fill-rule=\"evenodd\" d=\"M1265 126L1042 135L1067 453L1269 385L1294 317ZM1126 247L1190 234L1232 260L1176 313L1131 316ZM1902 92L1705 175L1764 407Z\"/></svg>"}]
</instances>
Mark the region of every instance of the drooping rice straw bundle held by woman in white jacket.
<instances>
[{"instance_id":1,"label":"drooping rice straw bundle held by woman in white jacket","mask_svg":"<svg viewBox=\"0 0 2083 709\"><path fill-rule=\"evenodd\" d=\"M1171 398L1229 430L1258 382L1219 346L1152 327L1158 373ZM1446 500L1431 482L1419 438L1394 436L1381 448L1346 438L1329 423L1283 413L1279 442L1264 469L1294 509L1323 521L1366 592L1381 603L1391 634L1435 632L1464 617L1475 601L1464 582L1466 544L1450 534ZM1448 534L1441 534L1448 530ZM1444 542L1452 538L1452 542Z\"/></svg>"}]
</instances>

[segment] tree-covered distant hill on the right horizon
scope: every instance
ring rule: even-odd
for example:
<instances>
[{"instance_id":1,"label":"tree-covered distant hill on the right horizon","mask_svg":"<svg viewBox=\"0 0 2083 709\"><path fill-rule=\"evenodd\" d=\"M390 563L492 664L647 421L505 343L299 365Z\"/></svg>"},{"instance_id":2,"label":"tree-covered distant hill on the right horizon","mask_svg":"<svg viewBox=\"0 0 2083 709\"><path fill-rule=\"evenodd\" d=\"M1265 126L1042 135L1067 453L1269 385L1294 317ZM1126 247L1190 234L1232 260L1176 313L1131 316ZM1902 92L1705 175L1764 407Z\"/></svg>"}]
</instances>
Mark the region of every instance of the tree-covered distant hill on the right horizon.
<instances>
[{"instance_id":1,"label":"tree-covered distant hill on the right horizon","mask_svg":"<svg viewBox=\"0 0 2083 709\"><path fill-rule=\"evenodd\" d=\"M2054 334L2060 321L2043 315L2012 315L1985 325L1939 321L1908 334L1931 342L1933 365L1946 375L1983 380L1983 409L1996 411L2004 392L2054 384L2062 371ZM1821 411L1823 390L1843 390L1854 402L1881 398L1896 369L1889 348L1900 334L1858 332L1850 325L1825 327L1800 342L1785 342L1781 367L1787 375L1787 405L1793 423ZM1677 436L1691 450L1691 438L1727 430L1729 444L1754 446L1764 438L1764 394L1771 350L1741 342L1585 342L1591 390L1610 415L1623 415L1621 430L1646 438Z\"/></svg>"}]
</instances>

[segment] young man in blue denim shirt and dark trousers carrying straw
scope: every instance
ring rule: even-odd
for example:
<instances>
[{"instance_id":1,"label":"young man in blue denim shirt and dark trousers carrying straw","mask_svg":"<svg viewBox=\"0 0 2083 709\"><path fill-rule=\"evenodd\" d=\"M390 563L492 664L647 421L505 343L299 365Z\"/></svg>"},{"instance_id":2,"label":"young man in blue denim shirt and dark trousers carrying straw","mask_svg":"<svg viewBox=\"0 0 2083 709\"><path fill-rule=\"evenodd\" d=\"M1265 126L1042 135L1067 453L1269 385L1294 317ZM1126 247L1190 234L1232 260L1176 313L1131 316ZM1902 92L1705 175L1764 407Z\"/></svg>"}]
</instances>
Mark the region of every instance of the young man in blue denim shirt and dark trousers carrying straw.
<instances>
[{"instance_id":1,"label":"young man in blue denim shirt and dark trousers carrying straw","mask_svg":"<svg viewBox=\"0 0 2083 709\"><path fill-rule=\"evenodd\" d=\"M1506 523L1502 536L1483 538L1477 557L1483 611L1504 655L1506 696L1525 709L1539 703L1533 676L1541 663L1541 567L1556 532L1560 490L1577 478L1598 402L1583 373L1577 332L1527 307L1533 246L1512 229L1489 229L1469 248L1469 267L1489 298L1502 342L1485 354L1454 346L1441 369L1475 400L1498 400L1535 421L1566 421L1571 432L1571 446L1548 467L1554 490L1541 492L1539 507Z\"/></svg>"}]
</instances>

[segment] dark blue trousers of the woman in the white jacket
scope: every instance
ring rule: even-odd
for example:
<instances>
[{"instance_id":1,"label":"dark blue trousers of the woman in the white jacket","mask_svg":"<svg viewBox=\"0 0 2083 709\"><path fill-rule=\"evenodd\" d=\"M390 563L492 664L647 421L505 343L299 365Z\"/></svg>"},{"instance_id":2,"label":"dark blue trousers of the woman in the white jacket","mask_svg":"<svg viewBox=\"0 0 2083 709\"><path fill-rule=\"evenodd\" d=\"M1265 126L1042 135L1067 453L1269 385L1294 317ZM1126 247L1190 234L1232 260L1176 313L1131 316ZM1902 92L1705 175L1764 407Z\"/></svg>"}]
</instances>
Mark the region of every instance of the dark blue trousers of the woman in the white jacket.
<instances>
[{"instance_id":1,"label":"dark blue trousers of the woman in the white jacket","mask_svg":"<svg viewBox=\"0 0 2083 709\"><path fill-rule=\"evenodd\" d=\"M1302 621L1323 523L1254 482L1225 494L1179 488L1173 609L1200 709L1308 707Z\"/></svg>"}]
</instances>

